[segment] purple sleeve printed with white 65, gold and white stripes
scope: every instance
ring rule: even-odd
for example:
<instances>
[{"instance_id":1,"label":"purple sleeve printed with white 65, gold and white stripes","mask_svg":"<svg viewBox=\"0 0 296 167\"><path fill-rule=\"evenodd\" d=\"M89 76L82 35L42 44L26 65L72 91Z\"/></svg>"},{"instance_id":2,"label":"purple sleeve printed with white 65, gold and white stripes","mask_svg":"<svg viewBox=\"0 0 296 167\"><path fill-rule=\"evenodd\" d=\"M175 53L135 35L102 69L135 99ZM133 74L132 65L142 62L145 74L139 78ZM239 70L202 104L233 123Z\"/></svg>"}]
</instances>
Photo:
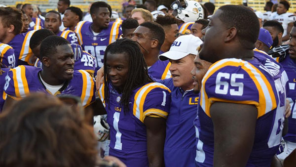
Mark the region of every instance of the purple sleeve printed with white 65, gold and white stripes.
<instances>
[{"instance_id":1,"label":"purple sleeve printed with white 65, gold and white stripes","mask_svg":"<svg viewBox=\"0 0 296 167\"><path fill-rule=\"evenodd\" d=\"M273 88L264 74L240 59L213 64L202 80L200 106L210 116L214 102L255 105L258 117L276 108Z\"/></svg>"}]
</instances>

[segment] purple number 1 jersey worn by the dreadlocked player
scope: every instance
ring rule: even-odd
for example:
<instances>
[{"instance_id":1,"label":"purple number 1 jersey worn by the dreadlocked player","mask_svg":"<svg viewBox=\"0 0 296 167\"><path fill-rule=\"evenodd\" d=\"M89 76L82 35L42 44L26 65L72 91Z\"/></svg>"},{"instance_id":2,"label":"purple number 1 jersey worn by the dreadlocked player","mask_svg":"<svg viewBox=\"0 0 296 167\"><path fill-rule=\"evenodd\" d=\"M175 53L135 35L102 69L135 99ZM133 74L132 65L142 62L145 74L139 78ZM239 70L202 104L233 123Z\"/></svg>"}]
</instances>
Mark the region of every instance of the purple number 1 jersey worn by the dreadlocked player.
<instances>
[{"instance_id":1,"label":"purple number 1 jersey worn by the dreadlocked player","mask_svg":"<svg viewBox=\"0 0 296 167\"><path fill-rule=\"evenodd\" d=\"M104 84L99 96L104 102ZM121 95L110 84L110 103L106 103L110 126L109 155L119 158L127 167L148 167L146 117L166 119L171 105L171 91L161 83L146 83L135 89L129 111L120 105Z\"/></svg>"}]
</instances>

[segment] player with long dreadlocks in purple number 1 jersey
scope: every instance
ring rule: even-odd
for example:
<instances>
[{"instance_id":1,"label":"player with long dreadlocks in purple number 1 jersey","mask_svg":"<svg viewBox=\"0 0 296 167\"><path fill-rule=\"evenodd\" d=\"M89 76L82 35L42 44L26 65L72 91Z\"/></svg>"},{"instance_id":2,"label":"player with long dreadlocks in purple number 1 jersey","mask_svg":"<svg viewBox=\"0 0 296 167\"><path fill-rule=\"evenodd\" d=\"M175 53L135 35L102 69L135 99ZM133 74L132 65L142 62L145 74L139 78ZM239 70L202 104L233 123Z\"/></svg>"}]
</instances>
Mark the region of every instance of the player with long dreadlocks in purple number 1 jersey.
<instances>
[{"instance_id":1,"label":"player with long dreadlocks in purple number 1 jersey","mask_svg":"<svg viewBox=\"0 0 296 167\"><path fill-rule=\"evenodd\" d=\"M163 166L170 89L150 79L138 42L111 43L104 60L99 96L110 125L109 154L128 167Z\"/></svg>"}]
</instances>

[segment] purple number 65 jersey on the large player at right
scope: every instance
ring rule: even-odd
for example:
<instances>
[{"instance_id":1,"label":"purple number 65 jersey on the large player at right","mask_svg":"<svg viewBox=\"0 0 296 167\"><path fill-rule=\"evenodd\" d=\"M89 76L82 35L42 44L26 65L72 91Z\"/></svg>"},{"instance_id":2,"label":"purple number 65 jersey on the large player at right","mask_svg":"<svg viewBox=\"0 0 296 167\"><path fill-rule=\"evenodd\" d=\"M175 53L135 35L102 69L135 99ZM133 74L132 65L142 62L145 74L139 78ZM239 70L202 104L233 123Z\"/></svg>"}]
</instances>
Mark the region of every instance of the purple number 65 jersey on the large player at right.
<instances>
[{"instance_id":1,"label":"purple number 65 jersey on the large player at right","mask_svg":"<svg viewBox=\"0 0 296 167\"><path fill-rule=\"evenodd\" d=\"M267 56L255 54L249 62L231 58L214 63L202 80L194 121L197 166L213 167L214 128L210 107L214 102L228 102L257 107L255 140L246 167L270 167L282 137L287 81L282 66Z\"/></svg>"}]
</instances>

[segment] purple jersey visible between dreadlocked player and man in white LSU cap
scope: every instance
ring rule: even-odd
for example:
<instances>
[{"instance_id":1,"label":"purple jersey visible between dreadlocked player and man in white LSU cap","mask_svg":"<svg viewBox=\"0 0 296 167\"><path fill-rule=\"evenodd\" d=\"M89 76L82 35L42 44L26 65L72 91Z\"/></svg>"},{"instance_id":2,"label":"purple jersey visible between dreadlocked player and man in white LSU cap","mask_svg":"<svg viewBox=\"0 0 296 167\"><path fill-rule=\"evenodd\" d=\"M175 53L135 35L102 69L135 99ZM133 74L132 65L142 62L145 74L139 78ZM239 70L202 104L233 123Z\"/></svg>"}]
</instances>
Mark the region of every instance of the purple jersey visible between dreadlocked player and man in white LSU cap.
<instances>
[{"instance_id":1,"label":"purple jersey visible between dreadlocked player and man in white LSU cap","mask_svg":"<svg viewBox=\"0 0 296 167\"><path fill-rule=\"evenodd\" d=\"M148 74L157 80L171 78L170 66L171 62L169 60L157 60L152 66L148 67Z\"/></svg>"}]
</instances>

